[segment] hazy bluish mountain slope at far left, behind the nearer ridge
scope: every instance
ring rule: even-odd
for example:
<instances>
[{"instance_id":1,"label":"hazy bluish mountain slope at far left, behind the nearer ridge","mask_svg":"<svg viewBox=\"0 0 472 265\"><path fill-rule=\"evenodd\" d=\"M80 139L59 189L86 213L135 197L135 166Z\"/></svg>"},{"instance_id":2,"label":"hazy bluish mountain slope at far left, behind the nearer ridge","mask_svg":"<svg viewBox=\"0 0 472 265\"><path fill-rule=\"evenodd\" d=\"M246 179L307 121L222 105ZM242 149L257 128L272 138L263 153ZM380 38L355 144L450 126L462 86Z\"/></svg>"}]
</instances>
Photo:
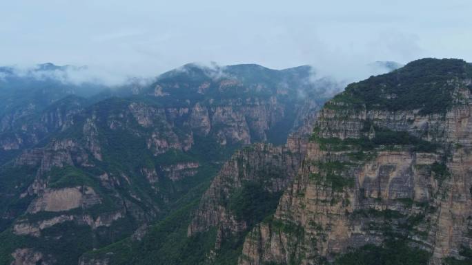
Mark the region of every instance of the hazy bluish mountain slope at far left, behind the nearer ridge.
<instances>
[{"instance_id":1,"label":"hazy bluish mountain slope at far left, behind the nearer ridge","mask_svg":"<svg viewBox=\"0 0 472 265\"><path fill-rule=\"evenodd\" d=\"M95 100L86 97L107 87L90 82L75 84L68 74L81 67L36 65L28 70L0 67L0 165L23 149L70 127L73 116ZM84 97L84 98L83 98Z\"/></svg>"}]
</instances>

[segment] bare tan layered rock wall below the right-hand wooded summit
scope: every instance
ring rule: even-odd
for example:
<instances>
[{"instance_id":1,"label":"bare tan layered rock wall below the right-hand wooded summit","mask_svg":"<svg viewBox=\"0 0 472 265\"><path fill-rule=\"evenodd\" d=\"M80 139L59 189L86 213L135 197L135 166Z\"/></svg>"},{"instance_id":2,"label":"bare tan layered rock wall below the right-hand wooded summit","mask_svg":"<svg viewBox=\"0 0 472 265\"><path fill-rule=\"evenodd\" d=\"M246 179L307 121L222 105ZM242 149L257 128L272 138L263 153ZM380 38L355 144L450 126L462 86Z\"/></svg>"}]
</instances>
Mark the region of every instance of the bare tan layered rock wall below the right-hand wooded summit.
<instances>
[{"instance_id":1,"label":"bare tan layered rock wall below the right-hand wooded summit","mask_svg":"<svg viewBox=\"0 0 472 265\"><path fill-rule=\"evenodd\" d=\"M470 99L469 89L460 94ZM459 257L462 246L472 246L471 113L470 103L444 115L327 103L303 166L274 219L246 237L239 264L317 264L350 247L382 244L384 229L432 253L431 264ZM366 124L407 131L440 147L377 146L361 153L348 139L375 139L379 132Z\"/></svg>"}]
</instances>

